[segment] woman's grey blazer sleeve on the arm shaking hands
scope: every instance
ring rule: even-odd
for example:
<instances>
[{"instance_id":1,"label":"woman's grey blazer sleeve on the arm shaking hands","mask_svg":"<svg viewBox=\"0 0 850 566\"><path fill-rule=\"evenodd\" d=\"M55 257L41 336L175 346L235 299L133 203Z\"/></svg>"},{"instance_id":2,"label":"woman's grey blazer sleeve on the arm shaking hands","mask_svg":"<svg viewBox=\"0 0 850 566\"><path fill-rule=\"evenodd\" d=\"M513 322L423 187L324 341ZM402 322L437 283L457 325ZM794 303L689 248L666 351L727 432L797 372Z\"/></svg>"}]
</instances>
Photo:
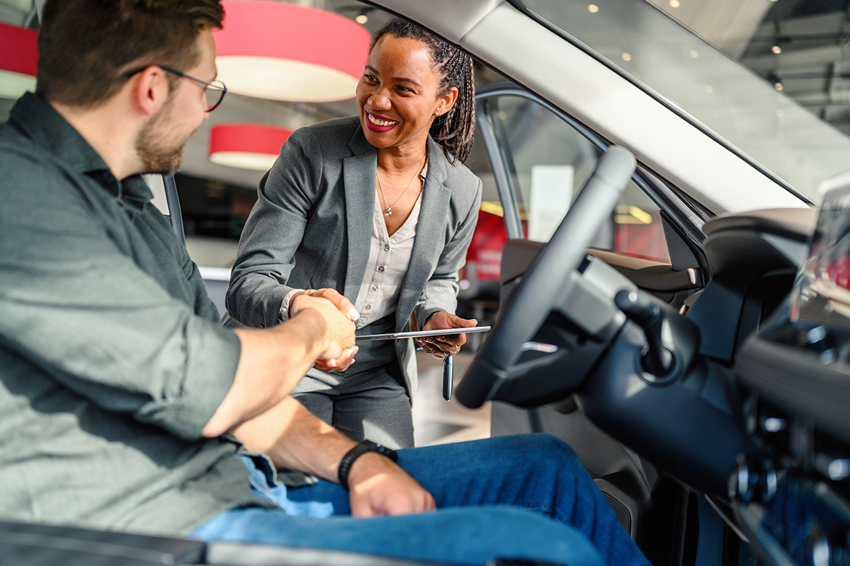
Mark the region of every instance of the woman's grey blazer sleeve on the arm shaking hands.
<instances>
[{"instance_id":1,"label":"woman's grey blazer sleeve on the arm shaking hands","mask_svg":"<svg viewBox=\"0 0 850 566\"><path fill-rule=\"evenodd\" d=\"M253 328L277 324L295 253L320 190L322 151L306 128L293 132L275 165L259 182L248 216L225 305L230 317Z\"/></svg>"}]
</instances>

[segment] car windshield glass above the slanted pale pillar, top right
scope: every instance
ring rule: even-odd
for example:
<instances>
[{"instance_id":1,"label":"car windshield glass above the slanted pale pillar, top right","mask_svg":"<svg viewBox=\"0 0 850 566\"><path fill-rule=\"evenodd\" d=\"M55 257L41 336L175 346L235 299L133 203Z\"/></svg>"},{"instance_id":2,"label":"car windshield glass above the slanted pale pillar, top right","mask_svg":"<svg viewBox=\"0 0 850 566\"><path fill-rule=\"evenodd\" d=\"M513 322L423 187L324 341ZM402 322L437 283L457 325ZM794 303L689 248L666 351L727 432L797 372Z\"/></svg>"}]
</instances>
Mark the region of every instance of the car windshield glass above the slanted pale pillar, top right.
<instances>
[{"instance_id":1,"label":"car windshield glass above the slanted pale pillar, top right","mask_svg":"<svg viewBox=\"0 0 850 566\"><path fill-rule=\"evenodd\" d=\"M768 11L773 3L747 3L748 8L760 4L762 9L758 14L744 8L733 9L734 3L727 3L728 9L723 14L730 18L728 25L719 26L722 36L712 37L712 41L722 42L728 32L727 53L724 53L649 2L522 1L541 20L815 202L819 201L821 181L847 171L850 137L825 120L832 114L846 114L846 108L835 113L824 110L816 115L780 92L783 81L774 76L776 73L768 73L772 77L768 81L734 59L745 53L747 42L761 40L762 28L773 30L773 22L767 20L773 17L770 15L773 12ZM706 26L711 17L723 15L712 14L710 4L706 3L704 17L698 19ZM766 18L765 25L757 30L762 17ZM840 64L847 59L846 34L836 37L836 45L830 49L837 53L836 64ZM740 42L743 44L737 46ZM768 49L770 45L763 46L767 50L764 57L750 58L749 64L755 67L762 64L762 59L768 59L774 66L784 65L777 71L779 75L795 64L797 73L811 72L804 62L795 61L806 56L809 64L813 64L815 50L803 50L793 60L782 59L791 53L790 44L785 44L784 51L776 45L773 52ZM782 55L778 58L780 51ZM842 75L839 71L836 74ZM836 79L836 88L842 84ZM836 101L832 106L836 104L843 103Z\"/></svg>"}]
</instances>

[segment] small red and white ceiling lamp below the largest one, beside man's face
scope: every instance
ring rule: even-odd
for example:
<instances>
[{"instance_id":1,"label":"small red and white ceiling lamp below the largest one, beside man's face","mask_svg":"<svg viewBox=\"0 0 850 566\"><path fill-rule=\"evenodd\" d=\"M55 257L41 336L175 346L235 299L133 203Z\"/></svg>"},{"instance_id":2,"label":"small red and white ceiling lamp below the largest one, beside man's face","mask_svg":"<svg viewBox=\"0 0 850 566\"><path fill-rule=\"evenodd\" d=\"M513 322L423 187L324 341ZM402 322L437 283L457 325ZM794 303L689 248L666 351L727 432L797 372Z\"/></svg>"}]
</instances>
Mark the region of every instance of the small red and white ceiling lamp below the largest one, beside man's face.
<instances>
[{"instance_id":1,"label":"small red and white ceiling lamp below the largest one, beside man's face","mask_svg":"<svg viewBox=\"0 0 850 566\"><path fill-rule=\"evenodd\" d=\"M260 124L218 124L210 128L209 160L217 165L268 171L292 130Z\"/></svg>"}]
</instances>

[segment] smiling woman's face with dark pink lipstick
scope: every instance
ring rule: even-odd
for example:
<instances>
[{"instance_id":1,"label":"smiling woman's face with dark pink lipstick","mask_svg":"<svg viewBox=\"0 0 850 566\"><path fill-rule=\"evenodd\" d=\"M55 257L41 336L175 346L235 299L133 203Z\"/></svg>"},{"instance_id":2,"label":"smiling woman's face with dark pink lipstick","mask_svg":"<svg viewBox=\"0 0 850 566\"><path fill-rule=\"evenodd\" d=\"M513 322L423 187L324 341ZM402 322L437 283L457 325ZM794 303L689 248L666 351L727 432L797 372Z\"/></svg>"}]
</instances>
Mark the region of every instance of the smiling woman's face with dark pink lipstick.
<instances>
[{"instance_id":1,"label":"smiling woman's face with dark pink lipstick","mask_svg":"<svg viewBox=\"0 0 850 566\"><path fill-rule=\"evenodd\" d=\"M424 43L381 36L357 84L357 113L366 140L379 149L423 148L436 113L445 114L457 98L455 87L437 96L440 78Z\"/></svg>"}]
</instances>

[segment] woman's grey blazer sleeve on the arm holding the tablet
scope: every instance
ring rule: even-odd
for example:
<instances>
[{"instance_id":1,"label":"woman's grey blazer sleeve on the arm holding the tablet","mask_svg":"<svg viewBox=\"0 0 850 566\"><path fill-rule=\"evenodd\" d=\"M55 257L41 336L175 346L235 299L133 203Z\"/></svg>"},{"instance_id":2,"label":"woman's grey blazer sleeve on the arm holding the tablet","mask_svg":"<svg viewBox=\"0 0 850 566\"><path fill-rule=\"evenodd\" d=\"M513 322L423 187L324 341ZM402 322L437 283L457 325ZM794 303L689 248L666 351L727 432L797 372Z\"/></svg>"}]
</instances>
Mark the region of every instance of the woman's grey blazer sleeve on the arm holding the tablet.
<instances>
[{"instance_id":1,"label":"woman's grey blazer sleeve on the arm holding the tablet","mask_svg":"<svg viewBox=\"0 0 850 566\"><path fill-rule=\"evenodd\" d=\"M422 289L422 294L416 302L416 320L420 321L420 327L434 312L445 311L454 314L456 311L458 272L467 261L467 249L472 242L481 207L481 180L474 178L478 184L471 205L465 210L465 215L458 215L462 221L439 255L437 266L431 277L428 277L425 289Z\"/></svg>"}]
</instances>

